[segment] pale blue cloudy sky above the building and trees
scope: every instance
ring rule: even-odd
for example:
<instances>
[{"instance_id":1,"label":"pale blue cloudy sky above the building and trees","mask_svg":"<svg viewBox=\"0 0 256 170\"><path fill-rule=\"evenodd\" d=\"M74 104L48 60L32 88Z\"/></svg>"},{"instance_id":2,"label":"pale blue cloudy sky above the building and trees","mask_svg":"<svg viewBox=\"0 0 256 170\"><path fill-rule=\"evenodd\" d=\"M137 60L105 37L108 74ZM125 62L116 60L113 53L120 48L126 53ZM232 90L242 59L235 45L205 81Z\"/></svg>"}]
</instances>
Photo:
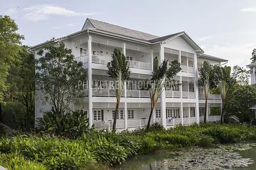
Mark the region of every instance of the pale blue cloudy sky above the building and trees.
<instances>
[{"instance_id":1,"label":"pale blue cloudy sky above the building and trees","mask_svg":"<svg viewBox=\"0 0 256 170\"><path fill-rule=\"evenodd\" d=\"M0 0L0 15L10 15L25 36L24 45L80 31L93 18L164 36L185 31L206 54L229 66L250 64L256 48L255 0Z\"/></svg>"}]
</instances>

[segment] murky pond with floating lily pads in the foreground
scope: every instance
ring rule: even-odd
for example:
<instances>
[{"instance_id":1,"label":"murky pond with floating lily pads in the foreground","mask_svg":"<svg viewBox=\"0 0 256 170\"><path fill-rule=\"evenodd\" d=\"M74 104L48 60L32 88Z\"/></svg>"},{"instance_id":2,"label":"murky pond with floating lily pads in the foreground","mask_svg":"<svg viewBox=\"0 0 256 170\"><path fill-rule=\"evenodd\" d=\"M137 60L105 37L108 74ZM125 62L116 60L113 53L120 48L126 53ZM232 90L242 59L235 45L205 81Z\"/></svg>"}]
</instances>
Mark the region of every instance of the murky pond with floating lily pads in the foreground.
<instances>
[{"instance_id":1,"label":"murky pond with floating lily pads in the foreground","mask_svg":"<svg viewBox=\"0 0 256 170\"><path fill-rule=\"evenodd\" d=\"M256 169L256 145L221 145L214 148L182 148L157 151L128 159L114 169Z\"/></svg>"}]
</instances>

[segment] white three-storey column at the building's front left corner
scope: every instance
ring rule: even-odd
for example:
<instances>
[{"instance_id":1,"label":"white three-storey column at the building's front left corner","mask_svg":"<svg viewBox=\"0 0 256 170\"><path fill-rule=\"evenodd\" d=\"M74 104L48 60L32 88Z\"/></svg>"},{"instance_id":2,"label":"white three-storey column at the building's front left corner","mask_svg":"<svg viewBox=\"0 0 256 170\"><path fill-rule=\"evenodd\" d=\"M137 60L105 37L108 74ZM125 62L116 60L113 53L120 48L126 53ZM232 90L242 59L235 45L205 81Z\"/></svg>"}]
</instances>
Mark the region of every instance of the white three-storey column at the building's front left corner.
<instances>
[{"instance_id":1,"label":"white three-storey column at the building's front left corner","mask_svg":"<svg viewBox=\"0 0 256 170\"><path fill-rule=\"evenodd\" d=\"M93 124L92 113L92 36L88 36L88 113L89 124Z\"/></svg>"}]
</instances>

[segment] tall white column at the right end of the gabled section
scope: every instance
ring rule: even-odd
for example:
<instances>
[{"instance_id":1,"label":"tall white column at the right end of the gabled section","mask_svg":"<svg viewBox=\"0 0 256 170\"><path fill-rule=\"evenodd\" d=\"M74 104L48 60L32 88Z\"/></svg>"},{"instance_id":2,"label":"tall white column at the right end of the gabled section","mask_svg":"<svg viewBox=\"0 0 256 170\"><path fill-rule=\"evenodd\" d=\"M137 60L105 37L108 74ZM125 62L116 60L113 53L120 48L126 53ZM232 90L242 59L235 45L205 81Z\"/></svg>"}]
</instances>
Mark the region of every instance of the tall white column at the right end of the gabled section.
<instances>
[{"instance_id":1,"label":"tall white column at the right end of the gabled section","mask_svg":"<svg viewBox=\"0 0 256 170\"><path fill-rule=\"evenodd\" d=\"M195 114L196 114L196 123L200 124L200 115L199 115L199 96L198 96L198 84L196 83L198 80L198 69L197 69L197 55L195 53L194 58L194 66L195 66L195 81L194 81L194 89L196 95L196 107L195 107Z\"/></svg>"}]
</instances>

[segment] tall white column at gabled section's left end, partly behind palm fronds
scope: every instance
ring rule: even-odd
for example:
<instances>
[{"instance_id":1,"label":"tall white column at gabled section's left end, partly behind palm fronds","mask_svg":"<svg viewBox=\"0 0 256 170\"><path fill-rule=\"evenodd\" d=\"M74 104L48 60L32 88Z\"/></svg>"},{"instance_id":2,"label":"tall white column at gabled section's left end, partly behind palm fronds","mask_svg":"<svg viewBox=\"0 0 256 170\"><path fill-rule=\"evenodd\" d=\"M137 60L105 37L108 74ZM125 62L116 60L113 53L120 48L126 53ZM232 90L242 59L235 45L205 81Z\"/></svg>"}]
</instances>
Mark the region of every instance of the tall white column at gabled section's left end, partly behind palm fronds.
<instances>
[{"instance_id":1,"label":"tall white column at gabled section's left end, partly behind palm fronds","mask_svg":"<svg viewBox=\"0 0 256 170\"><path fill-rule=\"evenodd\" d=\"M164 60L164 46L160 45L160 52L159 52L159 62ZM164 80L165 81L165 80ZM162 125L166 128L166 102L165 102L165 89L161 94L161 118L162 118Z\"/></svg>"}]
</instances>

